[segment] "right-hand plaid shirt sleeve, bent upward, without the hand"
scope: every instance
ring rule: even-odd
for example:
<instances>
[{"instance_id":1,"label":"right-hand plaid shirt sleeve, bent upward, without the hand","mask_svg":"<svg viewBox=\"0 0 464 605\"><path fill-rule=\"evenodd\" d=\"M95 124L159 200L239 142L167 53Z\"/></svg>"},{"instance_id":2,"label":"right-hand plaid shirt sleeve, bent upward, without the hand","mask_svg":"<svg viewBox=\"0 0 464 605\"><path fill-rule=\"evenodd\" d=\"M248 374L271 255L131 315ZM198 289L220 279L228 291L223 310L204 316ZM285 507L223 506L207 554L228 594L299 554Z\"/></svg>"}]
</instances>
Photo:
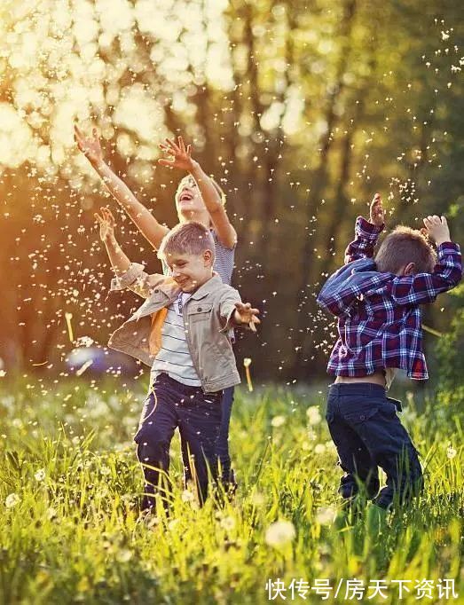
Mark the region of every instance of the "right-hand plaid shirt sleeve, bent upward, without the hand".
<instances>
[{"instance_id":1,"label":"right-hand plaid shirt sleeve, bent upward, without the hand","mask_svg":"<svg viewBox=\"0 0 464 605\"><path fill-rule=\"evenodd\" d=\"M462 278L460 247L451 241L438 246L438 261L432 273L393 279L391 295L397 304L433 303L436 296L457 286Z\"/></svg>"}]
</instances>

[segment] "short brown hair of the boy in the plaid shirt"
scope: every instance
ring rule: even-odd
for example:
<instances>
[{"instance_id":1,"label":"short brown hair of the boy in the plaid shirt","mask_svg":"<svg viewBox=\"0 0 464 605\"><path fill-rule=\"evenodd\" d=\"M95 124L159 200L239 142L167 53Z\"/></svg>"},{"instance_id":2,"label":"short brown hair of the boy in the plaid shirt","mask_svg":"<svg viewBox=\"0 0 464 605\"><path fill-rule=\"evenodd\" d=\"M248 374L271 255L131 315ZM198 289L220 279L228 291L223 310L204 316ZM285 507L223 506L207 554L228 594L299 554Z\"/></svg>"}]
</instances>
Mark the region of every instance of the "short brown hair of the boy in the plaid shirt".
<instances>
[{"instance_id":1,"label":"short brown hair of the boy in the plaid shirt","mask_svg":"<svg viewBox=\"0 0 464 605\"><path fill-rule=\"evenodd\" d=\"M400 224L381 242L375 255L377 270L397 273L407 263L414 263L416 273L431 273L436 264L436 251L417 229Z\"/></svg>"}]
</instances>

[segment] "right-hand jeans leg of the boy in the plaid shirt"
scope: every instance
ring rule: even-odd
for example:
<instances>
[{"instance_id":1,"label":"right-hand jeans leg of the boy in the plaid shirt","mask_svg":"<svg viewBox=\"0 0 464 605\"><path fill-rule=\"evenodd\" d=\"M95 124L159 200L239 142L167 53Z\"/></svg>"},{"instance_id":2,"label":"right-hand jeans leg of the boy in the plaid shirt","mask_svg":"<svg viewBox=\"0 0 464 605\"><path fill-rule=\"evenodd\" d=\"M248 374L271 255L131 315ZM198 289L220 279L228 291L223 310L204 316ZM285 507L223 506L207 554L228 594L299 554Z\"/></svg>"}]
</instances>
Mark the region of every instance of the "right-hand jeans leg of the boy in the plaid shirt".
<instances>
[{"instance_id":1,"label":"right-hand jeans leg of the boy in the plaid shirt","mask_svg":"<svg viewBox=\"0 0 464 605\"><path fill-rule=\"evenodd\" d=\"M375 394L358 398L356 410L348 402L344 414L350 428L387 474L387 485L375 504L388 508L395 494L401 503L417 495L422 487L421 464L410 436L397 417L396 405L384 394Z\"/></svg>"}]
</instances>

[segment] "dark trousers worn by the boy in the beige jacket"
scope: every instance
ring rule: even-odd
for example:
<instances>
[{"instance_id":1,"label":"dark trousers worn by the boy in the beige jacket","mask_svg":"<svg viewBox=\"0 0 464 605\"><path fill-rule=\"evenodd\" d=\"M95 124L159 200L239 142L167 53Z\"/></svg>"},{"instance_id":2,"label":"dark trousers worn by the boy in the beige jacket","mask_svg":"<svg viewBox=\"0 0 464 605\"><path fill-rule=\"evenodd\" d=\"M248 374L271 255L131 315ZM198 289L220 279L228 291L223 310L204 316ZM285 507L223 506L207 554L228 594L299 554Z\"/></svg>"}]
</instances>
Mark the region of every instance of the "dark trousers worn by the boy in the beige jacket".
<instances>
[{"instance_id":1,"label":"dark trousers worn by the boy in the beige jacket","mask_svg":"<svg viewBox=\"0 0 464 605\"><path fill-rule=\"evenodd\" d=\"M145 476L143 508L153 507L156 493L165 503L169 500L169 445L177 427L185 444L185 478L194 478L200 501L205 501L208 469L213 478L217 475L222 395L222 391L204 393L201 387L186 386L166 373L156 377L134 437Z\"/></svg>"}]
</instances>

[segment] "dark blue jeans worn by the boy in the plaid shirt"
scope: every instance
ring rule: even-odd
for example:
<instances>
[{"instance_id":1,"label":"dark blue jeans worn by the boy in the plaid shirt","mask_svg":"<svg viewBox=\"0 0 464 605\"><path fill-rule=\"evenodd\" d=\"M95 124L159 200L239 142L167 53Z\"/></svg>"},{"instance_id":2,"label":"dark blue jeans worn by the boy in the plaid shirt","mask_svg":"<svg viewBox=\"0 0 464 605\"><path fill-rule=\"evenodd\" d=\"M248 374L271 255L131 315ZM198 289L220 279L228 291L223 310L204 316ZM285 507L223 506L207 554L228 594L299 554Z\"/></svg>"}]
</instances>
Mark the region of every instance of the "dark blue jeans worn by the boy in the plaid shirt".
<instances>
[{"instance_id":1,"label":"dark blue jeans worn by the boy in the plaid shirt","mask_svg":"<svg viewBox=\"0 0 464 605\"><path fill-rule=\"evenodd\" d=\"M404 503L422 488L417 451L397 417L401 405L386 397L377 384L332 384L326 420L345 475L339 492L351 498L364 486L368 499L388 508L393 500ZM380 488L378 467L387 475Z\"/></svg>"}]
</instances>

